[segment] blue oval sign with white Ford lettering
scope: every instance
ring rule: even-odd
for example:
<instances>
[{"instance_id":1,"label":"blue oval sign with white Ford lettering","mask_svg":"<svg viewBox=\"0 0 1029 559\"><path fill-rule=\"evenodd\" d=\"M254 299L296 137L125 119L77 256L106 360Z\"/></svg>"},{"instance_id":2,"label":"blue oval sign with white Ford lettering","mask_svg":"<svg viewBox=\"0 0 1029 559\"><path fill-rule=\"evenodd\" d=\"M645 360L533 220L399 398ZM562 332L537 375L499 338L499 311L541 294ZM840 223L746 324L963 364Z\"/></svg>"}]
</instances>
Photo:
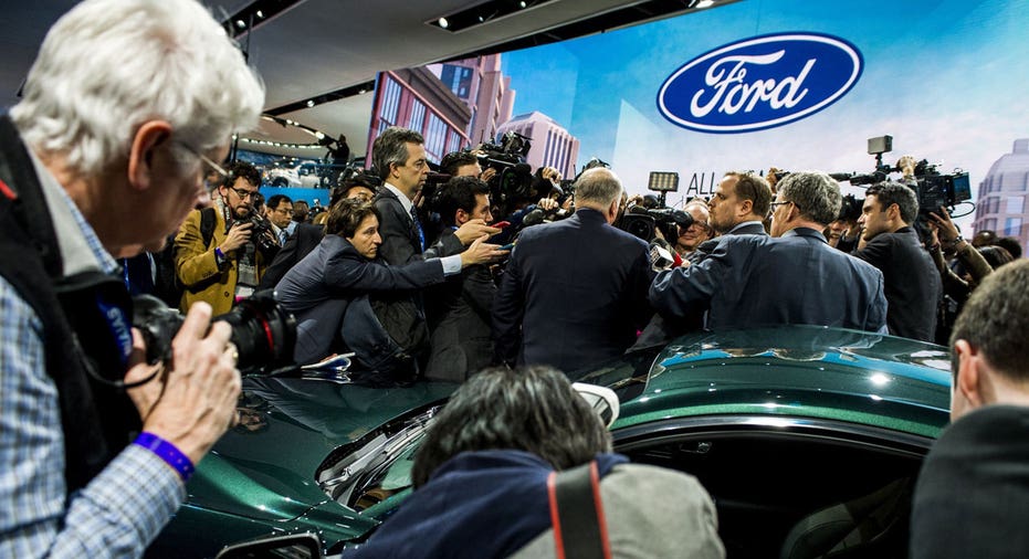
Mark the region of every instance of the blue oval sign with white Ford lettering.
<instances>
[{"instance_id":1,"label":"blue oval sign with white Ford lettering","mask_svg":"<svg viewBox=\"0 0 1029 559\"><path fill-rule=\"evenodd\" d=\"M858 83L861 53L817 33L757 36L720 46L661 85L658 109L672 123L716 134L783 126L813 115Z\"/></svg>"}]
</instances>

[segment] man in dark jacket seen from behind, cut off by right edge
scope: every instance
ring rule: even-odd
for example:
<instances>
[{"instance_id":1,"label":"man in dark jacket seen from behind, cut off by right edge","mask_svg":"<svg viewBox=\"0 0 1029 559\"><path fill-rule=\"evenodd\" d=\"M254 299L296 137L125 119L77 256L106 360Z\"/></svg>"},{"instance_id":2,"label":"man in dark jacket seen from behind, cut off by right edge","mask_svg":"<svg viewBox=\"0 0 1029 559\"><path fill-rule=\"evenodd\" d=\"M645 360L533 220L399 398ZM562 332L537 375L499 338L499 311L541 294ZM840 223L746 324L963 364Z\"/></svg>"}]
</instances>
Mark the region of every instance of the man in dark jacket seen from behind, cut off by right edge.
<instances>
[{"instance_id":1,"label":"man in dark jacket seen from behind, cut off by right edge","mask_svg":"<svg viewBox=\"0 0 1029 559\"><path fill-rule=\"evenodd\" d=\"M911 557L1029 553L1029 262L973 292L951 335L953 423L915 486Z\"/></svg>"}]
</instances>

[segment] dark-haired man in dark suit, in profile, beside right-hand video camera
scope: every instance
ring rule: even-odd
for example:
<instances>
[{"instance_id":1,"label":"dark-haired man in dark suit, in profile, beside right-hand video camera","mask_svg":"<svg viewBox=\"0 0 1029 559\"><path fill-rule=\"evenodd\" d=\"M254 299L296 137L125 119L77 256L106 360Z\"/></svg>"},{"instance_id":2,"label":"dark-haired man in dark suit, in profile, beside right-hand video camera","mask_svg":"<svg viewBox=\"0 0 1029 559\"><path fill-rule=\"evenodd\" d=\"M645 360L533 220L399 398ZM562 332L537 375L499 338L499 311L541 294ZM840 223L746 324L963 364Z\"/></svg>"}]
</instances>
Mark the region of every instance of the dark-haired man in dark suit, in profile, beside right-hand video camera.
<instances>
[{"instance_id":1,"label":"dark-haired man in dark suit, in profile, beside right-hand video camera","mask_svg":"<svg viewBox=\"0 0 1029 559\"><path fill-rule=\"evenodd\" d=\"M858 219L864 226L864 246L854 255L882 272L890 334L933 341L943 287L933 260L911 228L917 218L918 199L911 188L897 182L870 187Z\"/></svg>"}]
</instances>

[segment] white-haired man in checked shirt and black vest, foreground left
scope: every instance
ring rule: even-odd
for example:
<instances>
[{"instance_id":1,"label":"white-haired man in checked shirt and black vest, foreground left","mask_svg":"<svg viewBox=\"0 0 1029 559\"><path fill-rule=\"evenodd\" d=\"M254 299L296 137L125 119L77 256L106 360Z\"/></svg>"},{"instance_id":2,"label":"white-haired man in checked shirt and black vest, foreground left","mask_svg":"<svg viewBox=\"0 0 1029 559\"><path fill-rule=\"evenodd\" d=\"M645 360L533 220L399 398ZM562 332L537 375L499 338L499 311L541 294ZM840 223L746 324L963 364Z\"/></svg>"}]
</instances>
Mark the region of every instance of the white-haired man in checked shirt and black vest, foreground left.
<instances>
[{"instance_id":1,"label":"white-haired man in checked shirt and black vest, foreground left","mask_svg":"<svg viewBox=\"0 0 1029 559\"><path fill-rule=\"evenodd\" d=\"M48 33L0 118L0 557L141 556L233 422L230 326L197 305L148 366L112 273L160 249L263 105L192 0L85 0Z\"/></svg>"}]
</instances>

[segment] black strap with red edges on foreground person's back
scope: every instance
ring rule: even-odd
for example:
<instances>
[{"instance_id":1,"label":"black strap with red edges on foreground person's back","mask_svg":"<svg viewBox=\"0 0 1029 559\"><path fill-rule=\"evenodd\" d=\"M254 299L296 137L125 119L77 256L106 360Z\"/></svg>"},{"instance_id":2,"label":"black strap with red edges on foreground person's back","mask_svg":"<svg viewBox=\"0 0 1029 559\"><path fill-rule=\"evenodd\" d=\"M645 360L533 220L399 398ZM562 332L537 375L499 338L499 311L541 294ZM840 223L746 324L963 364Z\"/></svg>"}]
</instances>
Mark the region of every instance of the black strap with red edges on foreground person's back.
<instances>
[{"instance_id":1,"label":"black strap with red edges on foreground person's back","mask_svg":"<svg viewBox=\"0 0 1029 559\"><path fill-rule=\"evenodd\" d=\"M597 461L547 477L557 559L611 558Z\"/></svg>"}]
</instances>

